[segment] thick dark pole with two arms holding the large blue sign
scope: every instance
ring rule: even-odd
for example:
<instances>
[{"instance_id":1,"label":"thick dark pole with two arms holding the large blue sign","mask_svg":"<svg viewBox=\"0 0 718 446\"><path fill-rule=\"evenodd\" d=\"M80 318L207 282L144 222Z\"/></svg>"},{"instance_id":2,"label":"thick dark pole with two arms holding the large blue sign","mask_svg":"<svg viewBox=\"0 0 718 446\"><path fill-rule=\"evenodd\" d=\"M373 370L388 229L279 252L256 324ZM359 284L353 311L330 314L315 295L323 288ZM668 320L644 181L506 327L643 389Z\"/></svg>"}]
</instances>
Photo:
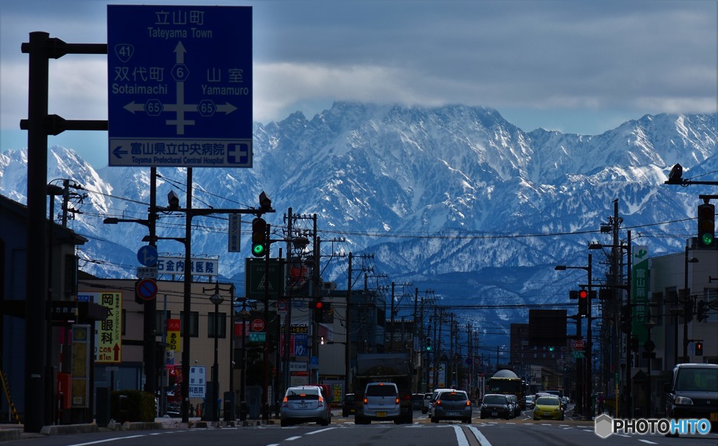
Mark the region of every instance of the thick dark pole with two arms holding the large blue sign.
<instances>
[{"instance_id":1,"label":"thick dark pole with two arms holding the large blue sign","mask_svg":"<svg viewBox=\"0 0 718 446\"><path fill-rule=\"evenodd\" d=\"M55 383L52 364L45 364L47 345L46 315L47 272L32 275L37 265L47 265L47 136L59 135L66 130L107 130L106 120L64 120L48 115L50 59L65 54L107 54L107 44L67 44L51 38L47 32L29 33L29 42L22 44L22 52L28 54L28 102L27 120L20 121L20 129L27 130L27 260L25 295L25 432L40 432L51 411L45 411L52 401ZM34 340L32 343L29 340ZM51 384L48 385L48 384ZM50 389L50 392L47 392ZM48 395L49 394L49 395ZM91 401L91 397L90 397ZM91 404L90 404L91 409ZM89 411L88 411L89 412Z\"/></svg>"}]
</instances>

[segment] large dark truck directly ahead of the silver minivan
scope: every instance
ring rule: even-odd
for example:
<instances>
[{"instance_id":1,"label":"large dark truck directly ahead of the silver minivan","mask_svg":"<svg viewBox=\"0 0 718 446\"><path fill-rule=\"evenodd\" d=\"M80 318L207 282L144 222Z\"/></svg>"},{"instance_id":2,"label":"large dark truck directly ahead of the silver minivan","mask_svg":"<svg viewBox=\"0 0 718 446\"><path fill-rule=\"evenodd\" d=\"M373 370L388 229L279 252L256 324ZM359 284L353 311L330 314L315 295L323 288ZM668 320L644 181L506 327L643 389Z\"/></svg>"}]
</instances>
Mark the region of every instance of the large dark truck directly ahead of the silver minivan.
<instances>
[{"instance_id":1,"label":"large dark truck directly ahead of the silver minivan","mask_svg":"<svg viewBox=\"0 0 718 446\"><path fill-rule=\"evenodd\" d=\"M364 415L364 391L369 383L391 382L396 384L399 398L399 414L393 419L396 424L414 422L414 409L411 407L411 389L414 379L414 364L406 353L358 354L356 374L353 379L354 423L368 424L370 419Z\"/></svg>"}]
</instances>

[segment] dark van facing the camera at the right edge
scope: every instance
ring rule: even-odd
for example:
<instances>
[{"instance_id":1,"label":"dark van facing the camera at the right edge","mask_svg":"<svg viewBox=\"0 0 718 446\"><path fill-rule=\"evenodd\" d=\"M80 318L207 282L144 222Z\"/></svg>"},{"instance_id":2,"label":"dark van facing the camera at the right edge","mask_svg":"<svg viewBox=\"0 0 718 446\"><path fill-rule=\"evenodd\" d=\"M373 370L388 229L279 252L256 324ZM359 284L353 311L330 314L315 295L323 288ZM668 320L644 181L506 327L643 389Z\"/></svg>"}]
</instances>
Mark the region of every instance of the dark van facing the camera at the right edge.
<instances>
[{"instance_id":1,"label":"dark van facing the camera at the right edge","mask_svg":"<svg viewBox=\"0 0 718 446\"><path fill-rule=\"evenodd\" d=\"M718 364L678 364L665 390L666 417L709 419L718 431Z\"/></svg>"}]
</instances>

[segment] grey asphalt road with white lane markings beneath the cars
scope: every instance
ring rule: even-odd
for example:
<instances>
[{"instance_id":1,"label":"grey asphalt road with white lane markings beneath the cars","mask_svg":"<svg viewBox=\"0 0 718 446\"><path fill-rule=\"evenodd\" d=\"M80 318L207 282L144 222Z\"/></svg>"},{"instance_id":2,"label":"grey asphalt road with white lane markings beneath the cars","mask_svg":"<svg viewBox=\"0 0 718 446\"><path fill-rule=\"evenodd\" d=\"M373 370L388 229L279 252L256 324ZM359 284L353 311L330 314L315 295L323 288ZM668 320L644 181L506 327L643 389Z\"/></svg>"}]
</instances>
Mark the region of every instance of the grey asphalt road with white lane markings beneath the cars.
<instances>
[{"instance_id":1,"label":"grey asphalt road with white lane markings beneath the cars","mask_svg":"<svg viewBox=\"0 0 718 446\"><path fill-rule=\"evenodd\" d=\"M80 435L32 437L4 442L22 446L709 446L718 444L718 433L708 436L668 438L661 435L611 435L606 440L594 433L592 422L533 421L531 412L514 419L479 419L472 424L434 424L421 412L414 412L414 424L373 422L355 425L353 417L335 411L332 424L297 424L280 427L259 424L249 427L166 429L147 431L97 432Z\"/></svg>"}]
</instances>

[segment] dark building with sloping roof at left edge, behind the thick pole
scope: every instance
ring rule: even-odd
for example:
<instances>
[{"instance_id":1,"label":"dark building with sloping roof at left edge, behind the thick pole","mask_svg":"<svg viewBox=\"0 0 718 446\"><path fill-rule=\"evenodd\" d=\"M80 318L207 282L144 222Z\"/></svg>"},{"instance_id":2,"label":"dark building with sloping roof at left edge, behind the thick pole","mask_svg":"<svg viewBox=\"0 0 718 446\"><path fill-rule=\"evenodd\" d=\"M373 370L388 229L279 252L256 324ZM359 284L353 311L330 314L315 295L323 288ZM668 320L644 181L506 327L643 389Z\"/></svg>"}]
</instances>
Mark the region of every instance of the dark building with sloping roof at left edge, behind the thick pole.
<instances>
[{"instance_id":1,"label":"dark building with sloping roof at left edge, behind the thick pole","mask_svg":"<svg viewBox=\"0 0 718 446\"><path fill-rule=\"evenodd\" d=\"M58 401L60 394L55 389L58 374L67 373L71 368L62 339L67 338L72 324L93 323L95 318L103 317L101 311L95 311L98 309L94 305L79 305L78 308L75 303L78 271L75 247L83 245L87 239L60 224L48 225L52 228L47 236L48 265L37 265L34 270L27 271L27 207L0 195L0 227L0 370L10 398L8 401L5 392L0 393L0 417L14 419L10 402L20 417L26 413L25 359L29 348L41 348L46 353L47 364L47 374L42 377L48 401L44 419L47 423L59 419L60 413L55 411L57 404L75 412L67 411L65 416L86 419L89 416L88 401L74 405L71 401ZM26 338L26 312L37 310L26 305L27 277L46 273L50 277L47 282L47 298L51 301L50 330L47 339ZM47 351L45 345L50 345Z\"/></svg>"}]
</instances>

